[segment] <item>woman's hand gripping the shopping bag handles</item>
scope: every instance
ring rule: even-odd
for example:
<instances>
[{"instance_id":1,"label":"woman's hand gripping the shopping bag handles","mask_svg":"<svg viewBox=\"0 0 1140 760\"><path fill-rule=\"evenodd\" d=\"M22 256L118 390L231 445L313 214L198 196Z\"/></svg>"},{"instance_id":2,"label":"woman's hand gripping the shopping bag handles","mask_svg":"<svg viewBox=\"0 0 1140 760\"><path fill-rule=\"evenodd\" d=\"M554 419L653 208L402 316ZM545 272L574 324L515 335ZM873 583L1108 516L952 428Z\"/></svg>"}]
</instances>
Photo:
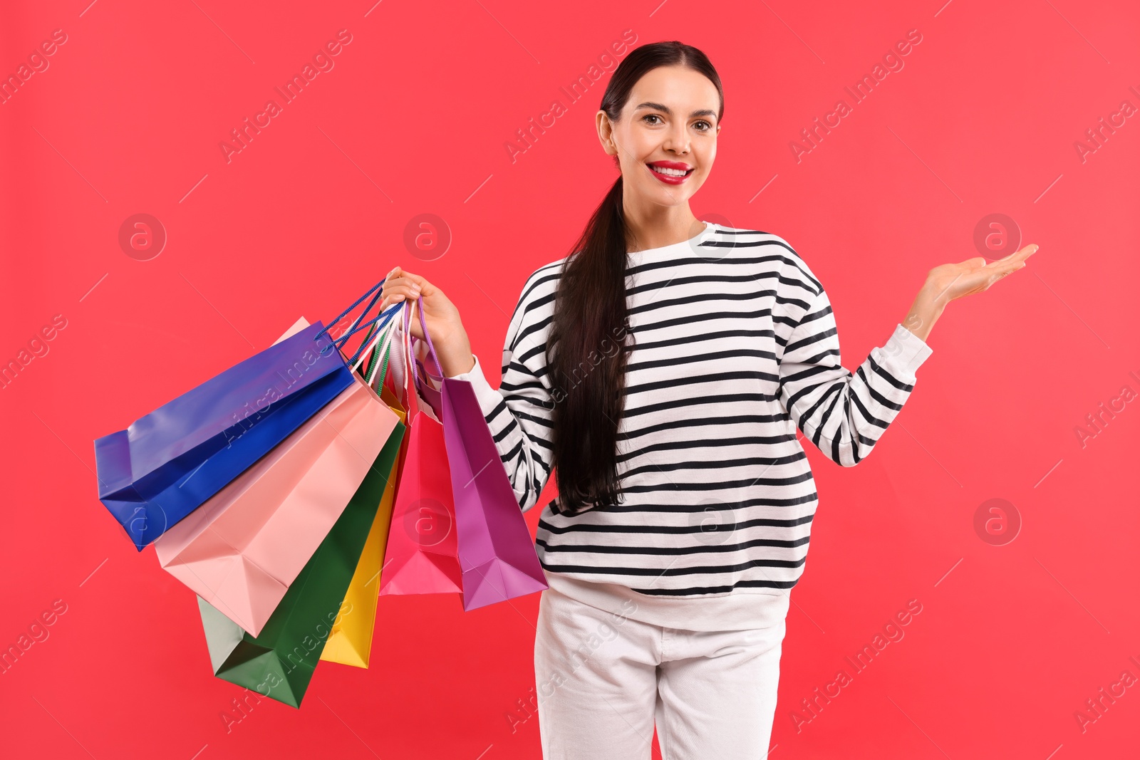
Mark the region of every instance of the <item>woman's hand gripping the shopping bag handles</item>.
<instances>
[{"instance_id":1,"label":"woman's hand gripping the shopping bag handles","mask_svg":"<svg viewBox=\"0 0 1140 760\"><path fill-rule=\"evenodd\" d=\"M441 289L420 275L394 267L384 278L381 295L383 299L380 304L381 311L401 301L407 302L412 309L412 318L408 320L409 332L423 341L424 330L420 324L420 307L416 304L416 300L420 300L424 318L427 320L432 345L435 346L446 376L465 373L474 366L471 342L463 328L459 310ZM402 317L400 319L402 320Z\"/></svg>"}]
</instances>

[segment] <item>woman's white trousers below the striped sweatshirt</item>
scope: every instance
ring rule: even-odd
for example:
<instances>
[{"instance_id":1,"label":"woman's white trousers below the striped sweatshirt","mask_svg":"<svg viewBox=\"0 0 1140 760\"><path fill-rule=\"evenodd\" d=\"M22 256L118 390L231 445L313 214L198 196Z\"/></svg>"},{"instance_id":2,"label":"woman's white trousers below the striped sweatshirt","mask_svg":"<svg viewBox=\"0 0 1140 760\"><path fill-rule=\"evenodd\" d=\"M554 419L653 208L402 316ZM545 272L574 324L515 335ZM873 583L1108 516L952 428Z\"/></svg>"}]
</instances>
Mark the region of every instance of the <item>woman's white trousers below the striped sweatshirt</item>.
<instances>
[{"instance_id":1,"label":"woman's white trousers below the striped sweatshirt","mask_svg":"<svg viewBox=\"0 0 1140 760\"><path fill-rule=\"evenodd\" d=\"M785 623L687 631L546 589L535 679L546 760L763 760Z\"/></svg>"}]
</instances>

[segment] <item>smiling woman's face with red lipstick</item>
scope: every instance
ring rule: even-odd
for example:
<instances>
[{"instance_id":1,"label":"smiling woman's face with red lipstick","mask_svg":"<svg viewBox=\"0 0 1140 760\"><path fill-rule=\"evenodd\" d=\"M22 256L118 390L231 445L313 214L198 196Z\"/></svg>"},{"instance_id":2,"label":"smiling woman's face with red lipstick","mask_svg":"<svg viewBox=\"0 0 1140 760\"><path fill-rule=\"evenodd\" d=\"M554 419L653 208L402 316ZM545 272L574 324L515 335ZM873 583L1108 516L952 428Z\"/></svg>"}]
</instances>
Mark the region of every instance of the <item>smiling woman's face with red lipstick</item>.
<instances>
[{"instance_id":1,"label":"smiling woman's face with red lipstick","mask_svg":"<svg viewBox=\"0 0 1140 760\"><path fill-rule=\"evenodd\" d=\"M597 112L598 138L608 154L618 156L627 201L689 202L716 160L719 107L716 85L703 74L659 66L634 85L617 124Z\"/></svg>"}]
</instances>

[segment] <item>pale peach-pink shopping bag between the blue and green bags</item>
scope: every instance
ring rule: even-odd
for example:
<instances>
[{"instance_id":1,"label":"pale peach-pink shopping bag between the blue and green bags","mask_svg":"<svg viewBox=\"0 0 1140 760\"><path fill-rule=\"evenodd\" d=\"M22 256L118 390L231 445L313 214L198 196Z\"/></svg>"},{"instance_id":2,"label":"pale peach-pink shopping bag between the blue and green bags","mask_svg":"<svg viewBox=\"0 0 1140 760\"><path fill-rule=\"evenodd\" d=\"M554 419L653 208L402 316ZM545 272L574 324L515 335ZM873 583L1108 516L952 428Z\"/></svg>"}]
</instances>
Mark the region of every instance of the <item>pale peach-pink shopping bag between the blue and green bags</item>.
<instances>
[{"instance_id":1,"label":"pale peach-pink shopping bag between the blue and green bags","mask_svg":"<svg viewBox=\"0 0 1140 760\"><path fill-rule=\"evenodd\" d=\"M158 563L168 572L254 636L400 424L359 375L353 373L352 379L278 447L155 541Z\"/></svg>"}]
</instances>

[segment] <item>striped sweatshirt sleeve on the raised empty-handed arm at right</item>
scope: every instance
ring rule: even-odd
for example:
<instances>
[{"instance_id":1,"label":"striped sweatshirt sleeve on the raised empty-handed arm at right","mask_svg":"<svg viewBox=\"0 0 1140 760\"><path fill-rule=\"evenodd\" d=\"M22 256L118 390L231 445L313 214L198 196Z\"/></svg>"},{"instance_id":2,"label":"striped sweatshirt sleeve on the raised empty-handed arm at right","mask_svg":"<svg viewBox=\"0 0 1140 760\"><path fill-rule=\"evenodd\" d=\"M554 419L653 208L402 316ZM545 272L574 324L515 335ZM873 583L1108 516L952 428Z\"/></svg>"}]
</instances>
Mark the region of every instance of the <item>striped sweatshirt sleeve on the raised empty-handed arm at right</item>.
<instances>
[{"instance_id":1,"label":"striped sweatshirt sleeve on the raised empty-handed arm at right","mask_svg":"<svg viewBox=\"0 0 1140 760\"><path fill-rule=\"evenodd\" d=\"M922 338L899 324L852 374L839 360L831 302L817 287L784 346L780 397L796 426L820 451L836 464L854 467L902 410L914 389L915 370L931 353Z\"/></svg>"}]
</instances>

